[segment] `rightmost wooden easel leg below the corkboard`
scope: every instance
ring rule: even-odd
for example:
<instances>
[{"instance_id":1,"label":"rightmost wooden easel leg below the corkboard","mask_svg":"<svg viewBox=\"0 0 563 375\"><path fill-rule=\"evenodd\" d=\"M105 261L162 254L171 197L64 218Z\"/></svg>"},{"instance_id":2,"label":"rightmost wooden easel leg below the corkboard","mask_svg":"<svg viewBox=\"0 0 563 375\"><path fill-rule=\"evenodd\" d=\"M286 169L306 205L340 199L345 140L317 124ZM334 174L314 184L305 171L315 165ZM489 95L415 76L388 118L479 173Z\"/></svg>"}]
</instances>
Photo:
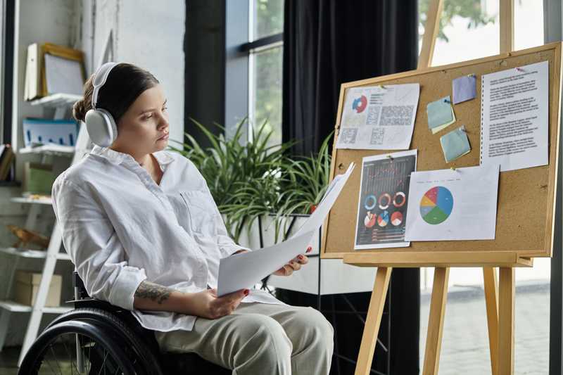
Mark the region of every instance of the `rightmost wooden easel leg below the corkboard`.
<instances>
[{"instance_id":1,"label":"rightmost wooden easel leg below the corkboard","mask_svg":"<svg viewBox=\"0 0 563 375\"><path fill-rule=\"evenodd\" d=\"M514 374L514 268L500 268L498 374Z\"/></svg>"}]
</instances>

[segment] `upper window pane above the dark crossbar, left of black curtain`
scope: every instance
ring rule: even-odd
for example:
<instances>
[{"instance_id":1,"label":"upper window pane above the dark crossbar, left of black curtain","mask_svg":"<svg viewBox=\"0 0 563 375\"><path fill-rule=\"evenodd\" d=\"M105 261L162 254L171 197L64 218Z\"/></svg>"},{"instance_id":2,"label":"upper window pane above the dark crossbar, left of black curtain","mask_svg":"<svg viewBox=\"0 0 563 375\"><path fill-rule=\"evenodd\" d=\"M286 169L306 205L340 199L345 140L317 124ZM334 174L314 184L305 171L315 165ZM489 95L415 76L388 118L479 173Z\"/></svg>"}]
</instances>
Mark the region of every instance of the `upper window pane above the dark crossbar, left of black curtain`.
<instances>
[{"instance_id":1,"label":"upper window pane above the dark crossbar, left of black curtain","mask_svg":"<svg viewBox=\"0 0 563 375\"><path fill-rule=\"evenodd\" d=\"M284 0L251 1L253 27L251 40L284 31Z\"/></svg>"}]
</instances>

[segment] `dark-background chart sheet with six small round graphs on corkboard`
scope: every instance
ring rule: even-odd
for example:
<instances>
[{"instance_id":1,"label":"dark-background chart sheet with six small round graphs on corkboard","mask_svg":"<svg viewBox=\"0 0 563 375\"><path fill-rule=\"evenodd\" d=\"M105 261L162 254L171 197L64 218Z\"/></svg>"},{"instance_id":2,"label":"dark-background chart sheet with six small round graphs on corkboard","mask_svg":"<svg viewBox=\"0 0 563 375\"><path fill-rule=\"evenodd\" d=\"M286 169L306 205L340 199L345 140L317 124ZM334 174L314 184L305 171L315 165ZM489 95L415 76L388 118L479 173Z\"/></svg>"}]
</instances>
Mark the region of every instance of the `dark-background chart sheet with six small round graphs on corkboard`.
<instances>
[{"instance_id":1,"label":"dark-background chart sheet with six small round graphs on corkboard","mask_svg":"<svg viewBox=\"0 0 563 375\"><path fill-rule=\"evenodd\" d=\"M391 157L391 158L390 158ZM417 150L362 159L354 249L403 248L410 174Z\"/></svg>"}]
</instances>

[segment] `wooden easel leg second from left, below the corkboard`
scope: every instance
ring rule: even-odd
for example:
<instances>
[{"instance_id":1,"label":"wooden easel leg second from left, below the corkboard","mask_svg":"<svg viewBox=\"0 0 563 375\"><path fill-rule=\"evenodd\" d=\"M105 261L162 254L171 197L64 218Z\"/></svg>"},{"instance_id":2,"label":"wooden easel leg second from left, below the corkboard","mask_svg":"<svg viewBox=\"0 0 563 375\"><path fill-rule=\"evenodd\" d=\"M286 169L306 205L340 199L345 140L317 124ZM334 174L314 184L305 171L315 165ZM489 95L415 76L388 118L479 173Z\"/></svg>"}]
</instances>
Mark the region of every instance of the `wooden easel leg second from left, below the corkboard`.
<instances>
[{"instance_id":1,"label":"wooden easel leg second from left, below the corkboard","mask_svg":"<svg viewBox=\"0 0 563 375\"><path fill-rule=\"evenodd\" d=\"M426 336L424 367L422 369L423 375L438 374L449 276L449 268L436 267L436 269L434 269L434 285L432 286L432 298L430 301L428 334Z\"/></svg>"}]
</instances>

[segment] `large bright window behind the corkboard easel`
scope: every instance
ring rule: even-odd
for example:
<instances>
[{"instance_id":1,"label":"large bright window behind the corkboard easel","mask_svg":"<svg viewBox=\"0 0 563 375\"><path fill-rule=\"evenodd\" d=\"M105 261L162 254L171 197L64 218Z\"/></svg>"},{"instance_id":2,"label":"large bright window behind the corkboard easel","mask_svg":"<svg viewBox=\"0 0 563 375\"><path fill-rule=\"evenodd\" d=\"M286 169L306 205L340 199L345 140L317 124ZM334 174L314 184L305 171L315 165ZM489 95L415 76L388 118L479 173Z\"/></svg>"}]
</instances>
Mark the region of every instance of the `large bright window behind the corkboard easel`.
<instances>
[{"instance_id":1,"label":"large bright window behind the corkboard easel","mask_svg":"<svg viewBox=\"0 0 563 375\"><path fill-rule=\"evenodd\" d=\"M420 42L429 0L419 1ZM496 55L500 49L498 0L445 0L432 65ZM514 49L543 44L543 1L514 1ZM479 151L476 151L479 152ZM420 358L424 360L434 269L421 269ZM547 374L549 367L550 259L515 271L514 374ZM440 374L491 374L481 268L452 268L445 307Z\"/></svg>"}]
</instances>

